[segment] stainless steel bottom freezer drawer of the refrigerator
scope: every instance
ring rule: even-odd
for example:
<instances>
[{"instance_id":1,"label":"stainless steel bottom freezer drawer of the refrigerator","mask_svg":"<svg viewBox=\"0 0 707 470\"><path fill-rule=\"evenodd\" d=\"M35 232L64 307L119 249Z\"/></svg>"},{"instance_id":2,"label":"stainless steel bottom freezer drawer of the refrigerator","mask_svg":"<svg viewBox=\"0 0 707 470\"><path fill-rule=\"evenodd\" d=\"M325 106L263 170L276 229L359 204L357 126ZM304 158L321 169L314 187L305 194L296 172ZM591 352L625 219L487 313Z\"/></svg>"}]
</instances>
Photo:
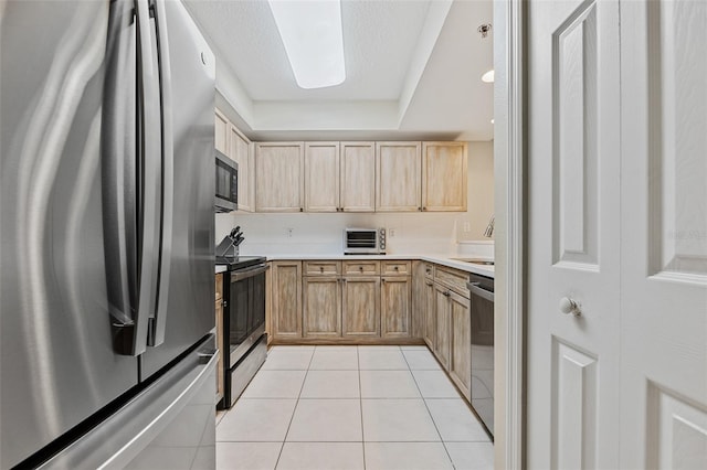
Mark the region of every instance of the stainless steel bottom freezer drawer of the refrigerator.
<instances>
[{"instance_id":1,"label":"stainless steel bottom freezer drawer of the refrigerator","mask_svg":"<svg viewBox=\"0 0 707 470\"><path fill-rule=\"evenodd\" d=\"M213 337L42 469L215 468Z\"/></svg>"}]
</instances>

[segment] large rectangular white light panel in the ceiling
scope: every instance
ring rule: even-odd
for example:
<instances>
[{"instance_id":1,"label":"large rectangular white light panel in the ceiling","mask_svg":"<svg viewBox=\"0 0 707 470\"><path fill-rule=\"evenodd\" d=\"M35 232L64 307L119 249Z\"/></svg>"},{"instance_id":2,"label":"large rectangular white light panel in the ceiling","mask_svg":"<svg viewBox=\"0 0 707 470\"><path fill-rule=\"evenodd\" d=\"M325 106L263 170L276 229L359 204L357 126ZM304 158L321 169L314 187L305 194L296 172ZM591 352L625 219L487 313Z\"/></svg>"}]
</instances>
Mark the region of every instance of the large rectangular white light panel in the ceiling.
<instances>
[{"instance_id":1,"label":"large rectangular white light panel in the ceiling","mask_svg":"<svg viewBox=\"0 0 707 470\"><path fill-rule=\"evenodd\" d=\"M346 79L340 0L267 0L300 88Z\"/></svg>"}]
</instances>

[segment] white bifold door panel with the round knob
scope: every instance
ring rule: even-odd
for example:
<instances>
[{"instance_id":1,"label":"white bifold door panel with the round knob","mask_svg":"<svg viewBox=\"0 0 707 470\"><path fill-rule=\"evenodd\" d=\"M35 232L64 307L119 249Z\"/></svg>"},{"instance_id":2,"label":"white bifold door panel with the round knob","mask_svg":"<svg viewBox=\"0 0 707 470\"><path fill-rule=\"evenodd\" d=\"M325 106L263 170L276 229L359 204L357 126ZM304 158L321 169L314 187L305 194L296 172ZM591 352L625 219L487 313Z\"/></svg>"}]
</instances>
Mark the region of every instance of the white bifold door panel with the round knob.
<instances>
[{"instance_id":1,"label":"white bifold door panel with the round knob","mask_svg":"<svg viewBox=\"0 0 707 470\"><path fill-rule=\"evenodd\" d=\"M618 468L619 4L530 1L527 24L527 467Z\"/></svg>"}]
</instances>

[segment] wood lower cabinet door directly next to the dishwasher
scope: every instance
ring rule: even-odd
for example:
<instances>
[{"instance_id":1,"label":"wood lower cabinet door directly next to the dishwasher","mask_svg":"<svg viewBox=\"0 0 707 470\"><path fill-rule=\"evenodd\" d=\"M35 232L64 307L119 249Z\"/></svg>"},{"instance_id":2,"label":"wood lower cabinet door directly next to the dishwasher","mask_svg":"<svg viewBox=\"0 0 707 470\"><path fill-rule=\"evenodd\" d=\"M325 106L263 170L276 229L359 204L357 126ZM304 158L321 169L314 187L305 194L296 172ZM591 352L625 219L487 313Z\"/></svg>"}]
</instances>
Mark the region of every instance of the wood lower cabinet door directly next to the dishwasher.
<instances>
[{"instance_id":1,"label":"wood lower cabinet door directly next to the dishwasher","mask_svg":"<svg viewBox=\"0 0 707 470\"><path fill-rule=\"evenodd\" d=\"M450 376L466 399L472 399L472 319L468 299L450 293L452 356ZM493 316L492 316L493 318Z\"/></svg>"}]
</instances>

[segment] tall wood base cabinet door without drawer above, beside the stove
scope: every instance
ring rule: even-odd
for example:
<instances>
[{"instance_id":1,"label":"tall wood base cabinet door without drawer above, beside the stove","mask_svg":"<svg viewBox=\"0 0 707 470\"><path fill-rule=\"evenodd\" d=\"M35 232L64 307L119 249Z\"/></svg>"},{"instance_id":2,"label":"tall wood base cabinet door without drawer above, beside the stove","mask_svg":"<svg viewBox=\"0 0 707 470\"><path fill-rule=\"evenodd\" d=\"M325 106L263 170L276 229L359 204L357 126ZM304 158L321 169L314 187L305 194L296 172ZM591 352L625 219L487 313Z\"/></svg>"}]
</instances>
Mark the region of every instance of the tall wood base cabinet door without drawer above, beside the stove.
<instances>
[{"instance_id":1,"label":"tall wood base cabinet door without drawer above, beside the stove","mask_svg":"<svg viewBox=\"0 0 707 470\"><path fill-rule=\"evenodd\" d=\"M273 261L273 321L275 338L302 338L302 263Z\"/></svg>"}]
</instances>

